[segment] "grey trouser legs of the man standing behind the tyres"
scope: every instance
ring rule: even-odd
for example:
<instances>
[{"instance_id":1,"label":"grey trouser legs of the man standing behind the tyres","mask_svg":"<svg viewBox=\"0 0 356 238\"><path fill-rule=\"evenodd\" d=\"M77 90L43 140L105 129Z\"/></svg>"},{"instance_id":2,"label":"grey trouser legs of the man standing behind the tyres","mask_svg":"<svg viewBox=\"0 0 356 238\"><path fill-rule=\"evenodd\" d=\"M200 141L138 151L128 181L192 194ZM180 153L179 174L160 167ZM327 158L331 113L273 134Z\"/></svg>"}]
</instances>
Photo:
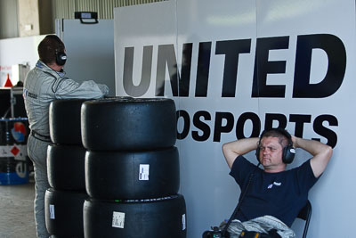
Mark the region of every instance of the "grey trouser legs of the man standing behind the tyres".
<instances>
[{"instance_id":1,"label":"grey trouser legs of the man standing behind the tyres","mask_svg":"<svg viewBox=\"0 0 356 238\"><path fill-rule=\"evenodd\" d=\"M50 234L45 227L44 216L44 193L49 188L47 177L47 147L51 144L28 136L28 157L32 160L35 168L35 221L38 238L48 238Z\"/></svg>"}]
</instances>

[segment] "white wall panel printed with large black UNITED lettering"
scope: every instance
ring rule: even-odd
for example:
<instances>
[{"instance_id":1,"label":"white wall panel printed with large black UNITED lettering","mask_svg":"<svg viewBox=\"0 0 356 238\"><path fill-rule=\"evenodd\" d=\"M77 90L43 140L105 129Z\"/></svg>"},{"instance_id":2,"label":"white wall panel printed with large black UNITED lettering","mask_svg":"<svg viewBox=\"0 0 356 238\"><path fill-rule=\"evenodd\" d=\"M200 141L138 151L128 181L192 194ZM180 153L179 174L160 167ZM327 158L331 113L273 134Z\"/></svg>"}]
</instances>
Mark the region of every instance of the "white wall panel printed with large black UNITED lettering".
<instances>
[{"instance_id":1,"label":"white wall panel printed with large black UNITED lettering","mask_svg":"<svg viewBox=\"0 0 356 238\"><path fill-rule=\"evenodd\" d=\"M335 147L310 192L308 236L352 237L354 20L352 0L172 0L115 9L117 95L174 98L182 112L177 146L189 238L230 217L238 201L239 188L228 175L222 144L259 135L266 124L284 123L293 135ZM144 53L149 56L142 60ZM142 77L142 63L150 60ZM127 77L130 66L133 78ZM170 83L175 69L181 86ZM190 73L189 87L183 84L182 69ZM253 94L255 76L261 79L255 87L261 90L259 97ZM247 157L256 161L253 152ZM310 157L297 150L290 168ZM302 223L292 228L300 237Z\"/></svg>"}]
</instances>

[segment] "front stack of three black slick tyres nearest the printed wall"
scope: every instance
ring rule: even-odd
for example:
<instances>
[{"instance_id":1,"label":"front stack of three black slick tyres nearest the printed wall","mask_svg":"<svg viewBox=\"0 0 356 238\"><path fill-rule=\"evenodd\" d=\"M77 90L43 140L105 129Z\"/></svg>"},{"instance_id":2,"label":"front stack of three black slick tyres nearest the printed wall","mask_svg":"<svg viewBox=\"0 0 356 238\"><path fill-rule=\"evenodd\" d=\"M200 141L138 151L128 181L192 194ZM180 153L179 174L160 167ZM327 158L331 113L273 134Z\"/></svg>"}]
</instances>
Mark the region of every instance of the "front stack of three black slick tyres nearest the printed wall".
<instances>
[{"instance_id":1,"label":"front stack of three black slick tyres nearest the printed wall","mask_svg":"<svg viewBox=\"0 0 356 238\"><path fill-rule=\"evenodd\" d=\"M170 99L83 103L85 238L186 237Z\"/></svg>"}]
</instances>

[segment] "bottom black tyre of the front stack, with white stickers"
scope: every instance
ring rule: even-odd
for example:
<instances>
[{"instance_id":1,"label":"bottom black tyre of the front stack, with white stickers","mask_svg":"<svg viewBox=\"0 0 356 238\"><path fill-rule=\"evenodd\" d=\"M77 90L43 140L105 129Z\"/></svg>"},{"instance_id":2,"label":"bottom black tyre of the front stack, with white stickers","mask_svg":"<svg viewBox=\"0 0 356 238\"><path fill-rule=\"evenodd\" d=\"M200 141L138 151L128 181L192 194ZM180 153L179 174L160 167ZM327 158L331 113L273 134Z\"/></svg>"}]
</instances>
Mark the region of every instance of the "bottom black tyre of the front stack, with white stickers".
<instances>
[{"instance_id":1,"label":"bottom black tyre of the front stack, with white stickers","mask_svg":"<svg viewBox=\"0 0 356 238\"><path fill-rule=\"evenodd\" d=\"M85 200L85 238L184 238L186 208L182 195L145 201Z\"/></svg>"}]
</instances>

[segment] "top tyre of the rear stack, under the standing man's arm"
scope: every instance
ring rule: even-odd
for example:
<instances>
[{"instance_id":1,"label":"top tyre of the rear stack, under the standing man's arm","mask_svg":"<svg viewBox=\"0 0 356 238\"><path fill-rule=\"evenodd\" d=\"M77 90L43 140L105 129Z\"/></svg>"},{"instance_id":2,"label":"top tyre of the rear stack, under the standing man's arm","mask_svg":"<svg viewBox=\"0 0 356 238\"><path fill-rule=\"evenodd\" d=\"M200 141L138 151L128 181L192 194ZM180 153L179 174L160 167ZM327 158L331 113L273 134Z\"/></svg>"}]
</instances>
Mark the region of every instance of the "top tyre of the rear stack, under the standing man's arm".
<instances>
[{"instance_id":1,"label":"top tyre of the rear stack, under the standing man's arm","mask_svg":"<svg viewBox=\"0 0 356 238\"><path fill-rule=\"evenodd\" d=\"M56 100L50 104L51 140L55 144L82 144L80 108L87 99Z\"/></svg>"}]
</instances>

